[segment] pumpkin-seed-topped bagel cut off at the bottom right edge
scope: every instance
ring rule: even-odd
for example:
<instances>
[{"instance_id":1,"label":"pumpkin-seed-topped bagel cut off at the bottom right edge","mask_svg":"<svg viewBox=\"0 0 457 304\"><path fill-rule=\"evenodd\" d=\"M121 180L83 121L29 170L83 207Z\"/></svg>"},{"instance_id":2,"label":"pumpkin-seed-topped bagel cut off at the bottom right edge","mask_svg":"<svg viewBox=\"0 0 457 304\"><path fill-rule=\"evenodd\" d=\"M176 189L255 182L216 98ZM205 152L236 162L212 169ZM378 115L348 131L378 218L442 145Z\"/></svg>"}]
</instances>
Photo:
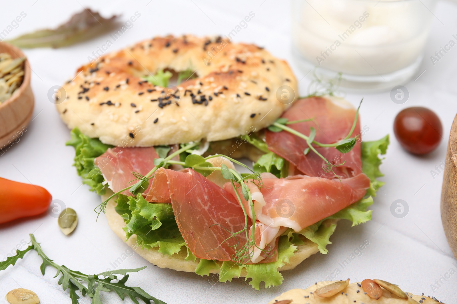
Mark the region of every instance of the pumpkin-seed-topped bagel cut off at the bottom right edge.
<instances>
[{"instance_id":1,"label":"pumpkin-seed-topped bagel cut off at the bottom right edge","mask_svg":"<svg viewBox=\"0 0 457 304\"><path fill-rule=\"evenodd\" d=\"M356 283L350 283L348 287L343 290L343 294L338 293L326 299L321 299L314 296L314 291L322 286L336 281L324 281L318 282L316 285L311 285L307 289L291 289L281 294L280 296L272 299L268 304L280 303L282 300L291 300L289 304L353 304L353 303L364 303L364 304L437 304L438 301L431 299L423 295L408 294L410 299L399 299L395 295L391 294L386 289L383 289L383 295L379 299L371 299L361 287ZM359 292L357 292L357 290ZM414 300L414 301L413 301ZM421 301L421 302L419 302ZM283 302L286 303L287 301Z\"/></svg>"}]
</instances>

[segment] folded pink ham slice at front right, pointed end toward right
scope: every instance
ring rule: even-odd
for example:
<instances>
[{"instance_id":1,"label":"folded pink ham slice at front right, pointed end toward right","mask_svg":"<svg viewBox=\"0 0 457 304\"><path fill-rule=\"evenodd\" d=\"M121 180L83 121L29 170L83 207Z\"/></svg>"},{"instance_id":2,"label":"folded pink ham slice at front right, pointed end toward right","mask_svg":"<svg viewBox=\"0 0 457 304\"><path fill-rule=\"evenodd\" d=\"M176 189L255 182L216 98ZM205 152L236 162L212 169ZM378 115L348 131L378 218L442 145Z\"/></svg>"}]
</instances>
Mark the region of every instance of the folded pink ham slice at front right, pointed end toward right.
<instances>
[{"instance_id":1,"label":"folded pink ham slice at front right, pointed end toward right","mask_svg":"<svg viewBox=\"0 0 457 304\"><path fill-rule=\"evenodd\" d=\"M255 219L269 227L289 227L296 232L360 200L370 186L365 174L341 181L306 175L281 179L264 177L262 183L259 188L252 180L246 181L254 201ZM230 183L226 183L224 188L234 194ZM241 187L238 191L252 218L249 202L244 200Z\"/></svg>"}]
</instances>

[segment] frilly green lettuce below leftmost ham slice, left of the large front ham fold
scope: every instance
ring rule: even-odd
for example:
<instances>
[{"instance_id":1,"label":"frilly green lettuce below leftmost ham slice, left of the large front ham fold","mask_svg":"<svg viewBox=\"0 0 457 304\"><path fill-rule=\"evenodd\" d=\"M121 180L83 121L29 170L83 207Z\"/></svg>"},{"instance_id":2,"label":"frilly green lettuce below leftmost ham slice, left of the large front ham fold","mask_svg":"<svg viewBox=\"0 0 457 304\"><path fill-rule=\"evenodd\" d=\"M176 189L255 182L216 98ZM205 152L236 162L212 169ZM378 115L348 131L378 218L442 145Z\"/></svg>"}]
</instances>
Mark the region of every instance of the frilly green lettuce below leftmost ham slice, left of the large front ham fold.
<instances>
[{"instance_id":1,"label":"frilly green lettuce below leftmost ham slice, left of the large front ham fold","mask_svg":"<svg viewBox=\"0 0 457 304\"><path fill-rule=\"evenodd\" d=\"M180 252L186 242L176 224L171 204L149 203L143 196L118 195L116 212L126 222L124 231L129 239L137 236L137 244L142 248L159 247L158 252L173 255ZM187 260L195 260L188 252Z\"/></svg>"}]
</instances>

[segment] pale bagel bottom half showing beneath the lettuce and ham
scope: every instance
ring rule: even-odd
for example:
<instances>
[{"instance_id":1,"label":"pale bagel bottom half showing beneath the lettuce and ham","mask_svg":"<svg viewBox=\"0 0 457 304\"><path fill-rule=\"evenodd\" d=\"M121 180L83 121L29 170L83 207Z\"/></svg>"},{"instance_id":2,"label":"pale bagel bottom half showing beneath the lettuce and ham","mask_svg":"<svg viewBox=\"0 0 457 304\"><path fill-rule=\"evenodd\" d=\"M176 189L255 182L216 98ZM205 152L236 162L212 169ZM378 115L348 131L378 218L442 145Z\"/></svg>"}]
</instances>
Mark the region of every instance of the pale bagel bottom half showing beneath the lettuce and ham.
<instances>
[{"instance_id":1,"label":"pale bagel bottom half showing beneath the lettuce and ham","mask_svg":"<svg viewBox=\"0 0 457 304\"><path fill-rule=\"evenodd\" d=\"M109 193L108 193L109 192ZM109 196L112 195L111 191L107 191L107 193L103 196L101 196L101 200L104 201L106 200ZM122 239L122 241L125 241L126 235L125 232L122 230L123 227L125 227L125 222L122 219L122 217L117 214L116 210L114 207L116 206L116 202L114 201L114 198L111 199L107 206L106 206L106 220L108 221L108 225L116 233L118 237ZM304 244L303 245L298 245L298 250L294 252L294 256L290 258L290 263L285 264L282 266L279 270L289 270L295 268L298 264L302 263L305 258L310 257L311 255L319 252L319 249L317 247L317 244L314 242L311 242L305 237L302 237ZM178 253L175 253L173 255L164 255L160 252L158 252L159 248L154 247L151 249L143 249L140 246L137 246L137 237L136 235L133 235L126 241L127 245L130 246L135 252L137 252L141 257L143 257L145 260L149 261L150 263L153 263L154 265L160 267L160 268L170 268L178 271L186 271L186 272L195 272L195 268L197 268L197 265L200 261L200 259L197 258L196 261L186 261L186 255L187 251L184 249ZM222 262L220 263L222 264ZM213 270L211 273L219 273L219 270ZM243 268L241 270L241 277L246 276L246 269Z\"/></svg>"}]
</instances>

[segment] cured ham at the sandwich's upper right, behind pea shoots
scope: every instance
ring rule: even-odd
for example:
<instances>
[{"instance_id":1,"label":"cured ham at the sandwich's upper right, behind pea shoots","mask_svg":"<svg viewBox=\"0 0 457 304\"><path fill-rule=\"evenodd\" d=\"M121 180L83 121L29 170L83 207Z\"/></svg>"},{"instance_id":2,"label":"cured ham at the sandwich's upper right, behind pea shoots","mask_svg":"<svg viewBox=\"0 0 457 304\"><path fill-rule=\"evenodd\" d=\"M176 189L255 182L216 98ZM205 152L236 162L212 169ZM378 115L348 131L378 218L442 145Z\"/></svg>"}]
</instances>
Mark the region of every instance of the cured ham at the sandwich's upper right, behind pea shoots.
<instances>
[{"instance_id":1,"label":"cured ham at the sandwich's upper right, behind pea shoots","mask_svg":"<svg viewBox=\"0 0 457 304\"><path fill-rule=\"evenodd\" d=\"M296 101L291 108L282 114L282 117L289 121L313 119L287 126L307 136L310 133L310 127L314 127L316 129L316 141L323 144L333 144L344 139L351 131L355 115L356 109L342 99L313 97ZM351 136L356 134L360 134L359 119ZM286 131L278 133L266 131L266 143L268 149L291 162L305 175L330 179L335 177L333 172L327 172L328 170L323 169L326 167L325 161L313 151L304 155L303 151L308 148L308 144L304 139L294 134ZM344 162L343 165L333 167L336 175L340 178L356 176L362 172L361 140L358 140L354 148L345 154L334 147L316 147L316 149L334 165Z\"/></svg>"}]
</instances>

